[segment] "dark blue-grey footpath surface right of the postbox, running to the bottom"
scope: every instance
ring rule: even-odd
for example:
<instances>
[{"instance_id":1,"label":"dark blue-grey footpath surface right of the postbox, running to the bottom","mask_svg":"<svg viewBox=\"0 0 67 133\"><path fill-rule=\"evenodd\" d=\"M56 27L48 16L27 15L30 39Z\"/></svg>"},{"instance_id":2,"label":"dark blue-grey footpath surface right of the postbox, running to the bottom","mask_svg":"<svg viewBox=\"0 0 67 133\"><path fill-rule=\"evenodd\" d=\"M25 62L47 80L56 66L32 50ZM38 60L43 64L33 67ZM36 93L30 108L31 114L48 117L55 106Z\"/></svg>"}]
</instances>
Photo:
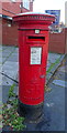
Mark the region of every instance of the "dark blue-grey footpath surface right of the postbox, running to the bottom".
<instances>
[{"instance_id":1,"label":"dark blue-grey footpath surface right of the postbox, running to the bottom","mask_svg":"<svg viewBox=\"0 0 67 133\"><path fill-rule=\"evenodd\" d=\"M26 131L65 131L65 91L67 89L67 57L57 69L45 93L43 120L40 123L29 124Z\"/></svg>"}]
</instances>

